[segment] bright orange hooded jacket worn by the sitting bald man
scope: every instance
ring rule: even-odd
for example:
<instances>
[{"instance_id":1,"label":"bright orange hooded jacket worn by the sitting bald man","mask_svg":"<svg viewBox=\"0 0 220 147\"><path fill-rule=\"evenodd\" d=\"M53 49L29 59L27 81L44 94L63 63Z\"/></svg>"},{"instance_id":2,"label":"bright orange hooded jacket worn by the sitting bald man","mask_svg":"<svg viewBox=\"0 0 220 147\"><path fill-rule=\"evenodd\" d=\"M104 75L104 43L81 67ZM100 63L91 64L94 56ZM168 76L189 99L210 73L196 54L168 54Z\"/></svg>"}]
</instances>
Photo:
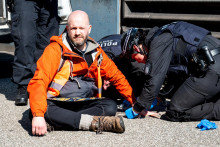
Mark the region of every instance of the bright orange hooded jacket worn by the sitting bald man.
<instances>
[{"instance_id":1,"label":"bright orange hooded jacket worn by the sitting bald man","mask_svg":"<svg viewBox=\"0 0 220 147\"><path fill-rule=\"evenodd\" d=\"M95 60L88 67L84 58L77 53L68 49L63 43L62 35L51 37L51 43L45 48L44 53L37 61L37 69L34 77L28 85L29 101L33 116L44 116L47 110L47 90L49 84L52 82L61 61L61 49L63 48L63 56L70 56L72 58L74 68L72 75L80 76L85 75L90 78L97 79L97 60L96 58L102 53L103 60L101 63L101 77L104 80L109 80L112 85L127 99L131 104L134 103L134 96L132 88L125 76L118 70L114 62L108 58L100 46L94 48L97 52ZM93 44L96 43L91 38L88 40ZM97 43L96 43L97 45Z\"/></svg>"}]
</instances>

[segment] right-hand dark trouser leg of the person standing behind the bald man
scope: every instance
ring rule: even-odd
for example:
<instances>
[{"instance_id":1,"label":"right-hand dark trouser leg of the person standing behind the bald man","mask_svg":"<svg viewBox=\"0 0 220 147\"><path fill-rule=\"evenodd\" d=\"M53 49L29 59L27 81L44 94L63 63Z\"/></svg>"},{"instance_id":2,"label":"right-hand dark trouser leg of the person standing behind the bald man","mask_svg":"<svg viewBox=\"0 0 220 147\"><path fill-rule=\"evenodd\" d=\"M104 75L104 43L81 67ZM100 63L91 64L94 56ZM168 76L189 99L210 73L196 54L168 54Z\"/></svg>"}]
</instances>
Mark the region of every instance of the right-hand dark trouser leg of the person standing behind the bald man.
<instances>
[{"instance_id":1,"label":"right-hand dark trouser leg of the person standing behind the bald man","mask_svg":"<svg viewBox=\"0 0 220 147\"><path fill-rule=\"evenodd\" d=\"M34 50L34 64L32 72L35 72L36 62L49 45L52 36L59 35L59 17L57 0L38 1L39 19L37 24L37 42Z\"/></svg>"}]
</instances>

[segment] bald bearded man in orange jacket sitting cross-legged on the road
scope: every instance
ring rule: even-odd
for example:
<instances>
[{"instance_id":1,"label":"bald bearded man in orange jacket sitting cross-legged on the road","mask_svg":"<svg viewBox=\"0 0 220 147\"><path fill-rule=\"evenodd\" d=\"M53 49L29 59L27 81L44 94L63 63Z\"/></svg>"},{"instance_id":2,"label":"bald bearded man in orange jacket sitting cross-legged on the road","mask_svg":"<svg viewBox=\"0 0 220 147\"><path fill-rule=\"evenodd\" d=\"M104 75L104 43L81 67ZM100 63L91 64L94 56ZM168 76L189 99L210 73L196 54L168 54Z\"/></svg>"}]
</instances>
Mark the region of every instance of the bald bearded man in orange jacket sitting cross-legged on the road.
<instances>
[{"instance_id":1,"label":"bald bearded man in orange jacket sitting cross-legged on the road","mask_svg":"<svg viewBox=\"0 0 220 147\"><path fill-rule=\"evenodd\" d=\"M131 104L132 88L114 62L88 37L91 28L84 11L72 12L64 33L51 38L38 60L28 85L33 135L46 134L48 126L98 133L125 131L122 117L115 117L116 102L97 97L98 71Z\"/></svg>"}]
</instances>

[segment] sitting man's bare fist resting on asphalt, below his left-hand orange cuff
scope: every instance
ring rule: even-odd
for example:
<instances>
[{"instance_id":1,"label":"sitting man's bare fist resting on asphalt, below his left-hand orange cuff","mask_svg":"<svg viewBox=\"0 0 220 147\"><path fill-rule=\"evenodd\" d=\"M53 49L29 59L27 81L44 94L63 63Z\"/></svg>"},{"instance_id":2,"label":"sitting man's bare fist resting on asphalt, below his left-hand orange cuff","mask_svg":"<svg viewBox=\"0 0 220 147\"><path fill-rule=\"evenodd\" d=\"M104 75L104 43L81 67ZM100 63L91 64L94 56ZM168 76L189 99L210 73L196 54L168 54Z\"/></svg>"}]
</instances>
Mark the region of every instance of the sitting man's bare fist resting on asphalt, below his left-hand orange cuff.
<instances>
[{"instance_id":1,"label":"sitting man's bare fist resting on asphalt, below his left-hand orange cuff","mask_svg":"<svg viewBox=\"0 0 220 147\"><path fill-rule=\"evenodd\" d=\"M45 135L47 133L47 125L44 117L33 117L32 119L32 134Z\"/></svg>"}]
</instances>

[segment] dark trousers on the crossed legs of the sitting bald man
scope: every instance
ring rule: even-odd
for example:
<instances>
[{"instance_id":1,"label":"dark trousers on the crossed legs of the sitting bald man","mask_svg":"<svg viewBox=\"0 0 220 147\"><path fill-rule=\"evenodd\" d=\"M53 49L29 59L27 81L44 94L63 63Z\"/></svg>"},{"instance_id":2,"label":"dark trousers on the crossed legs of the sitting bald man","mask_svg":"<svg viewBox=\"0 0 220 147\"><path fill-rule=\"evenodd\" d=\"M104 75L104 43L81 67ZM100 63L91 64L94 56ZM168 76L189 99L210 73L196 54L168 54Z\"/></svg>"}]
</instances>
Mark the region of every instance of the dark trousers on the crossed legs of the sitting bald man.
<instances>
[{"instance_id":1,"label":"dark trousers on the crossed legs of the sitting bald man","mask_svg":"<svg viewBox=\"0 0 220 147\"><path fill-rule=\"evenodd\" d=\"M109 98L81 102L47 101L46 121L55 127L78 130L82 114L115 116L117 103Z\"/></svg>"}]
</instances>

